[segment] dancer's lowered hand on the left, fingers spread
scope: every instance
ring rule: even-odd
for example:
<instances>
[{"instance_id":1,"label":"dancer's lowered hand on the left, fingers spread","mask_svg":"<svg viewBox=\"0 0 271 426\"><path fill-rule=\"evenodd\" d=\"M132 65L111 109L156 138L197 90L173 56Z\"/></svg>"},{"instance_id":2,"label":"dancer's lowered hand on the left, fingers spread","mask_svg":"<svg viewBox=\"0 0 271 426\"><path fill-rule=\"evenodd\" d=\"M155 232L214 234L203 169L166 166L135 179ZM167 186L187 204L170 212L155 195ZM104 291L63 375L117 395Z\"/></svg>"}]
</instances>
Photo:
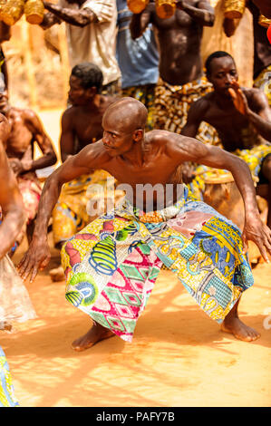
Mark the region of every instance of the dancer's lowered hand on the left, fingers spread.
<instances>
[{"instance_id":1,"label":"dancer's lowered hand on the left, fingers spread","mask_svg":"<svg viewBox=\"0 0 271 426\"><path fill-rule=\"evenodd\" d=\"M19 262L17 270L23 280L30 276L30 283L33 283L38 271L42 271L50 261L51 254L47 240L33 238L24 257Z\"/></svg>"}]
</instances>

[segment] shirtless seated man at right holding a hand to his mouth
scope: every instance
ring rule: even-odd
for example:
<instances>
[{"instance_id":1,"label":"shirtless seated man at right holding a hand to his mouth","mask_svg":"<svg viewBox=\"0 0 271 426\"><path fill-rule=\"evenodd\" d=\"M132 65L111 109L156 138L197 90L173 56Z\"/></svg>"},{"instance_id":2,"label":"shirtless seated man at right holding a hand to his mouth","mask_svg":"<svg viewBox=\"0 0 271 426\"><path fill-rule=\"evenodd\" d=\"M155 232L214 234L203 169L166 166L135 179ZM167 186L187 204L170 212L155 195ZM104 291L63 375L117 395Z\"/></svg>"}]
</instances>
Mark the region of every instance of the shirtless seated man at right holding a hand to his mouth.
<instances>
[{"instance_id":1,"label":"shirtless seated man at right holding a hand to his mouth","mask_svg":"<svg viewBox=\"0 0 271 426\"><path fill-rule=\"evenodd\" d=\"M266 95L260 89L239 87L236 64L227 52L209 55L206 68L214 92L191 106L182 134L195 137L201 121L217 129L224 150L245 160L258 181L258 193L268 202L271 228L271 110ZM201 179L193 180L192 189L203 188ZM266 184L266 194L260 191L261 184Z\"/></svg>"}]
</instances>

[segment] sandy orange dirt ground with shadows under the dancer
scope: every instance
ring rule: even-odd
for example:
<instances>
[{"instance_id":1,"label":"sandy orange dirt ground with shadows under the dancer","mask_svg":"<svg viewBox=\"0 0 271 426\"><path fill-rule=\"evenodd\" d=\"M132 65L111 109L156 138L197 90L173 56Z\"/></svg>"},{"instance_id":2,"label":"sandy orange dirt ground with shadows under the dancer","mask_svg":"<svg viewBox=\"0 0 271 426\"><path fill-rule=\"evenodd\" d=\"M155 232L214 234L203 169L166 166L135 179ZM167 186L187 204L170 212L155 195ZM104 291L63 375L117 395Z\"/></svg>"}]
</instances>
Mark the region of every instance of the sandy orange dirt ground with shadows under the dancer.
<instances>
[{"instance_id":1,"label":"sandy orange dirt ground with shadows under the dancer","mask_svg":"<svg viewBox=\"0 0 271 426\"><path fill-rule=\"evenodd\" d=\"M48 114L41 116L57 143L59 111ZM22 407L270 407L270 264L256 266L255 285L239 305L261 333L254 343L222 333L162 271L131 344L113 337L75 353L71 343L92 323L65 300L64 282L51 282L58 261L52 248L50 265L25 283L38 317L0 336Z\"/></svg>"}]
</instances>

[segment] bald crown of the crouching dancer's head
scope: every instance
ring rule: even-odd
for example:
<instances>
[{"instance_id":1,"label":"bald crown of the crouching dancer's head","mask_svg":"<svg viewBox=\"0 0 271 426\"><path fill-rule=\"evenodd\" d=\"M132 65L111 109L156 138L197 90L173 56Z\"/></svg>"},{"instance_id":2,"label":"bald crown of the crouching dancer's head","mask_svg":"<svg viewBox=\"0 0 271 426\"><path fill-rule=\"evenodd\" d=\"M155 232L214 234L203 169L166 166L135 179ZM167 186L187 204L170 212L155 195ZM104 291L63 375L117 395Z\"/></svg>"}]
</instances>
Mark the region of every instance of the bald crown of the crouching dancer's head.
<instances>
[{"instance_id":1,"label":"bald crown of the crouching dancer's head","mask_svg":"<svg viewBox=\"0 0 271 426\"><path fill-rule=\"evenodd\" d=\"M126 131L145 129L148 117L148 110L142 102L134 98L121 98L121 100L111 103L104 113L104 118L113 120L116 126L124 128Z\"/></svg>"}]
</instances>

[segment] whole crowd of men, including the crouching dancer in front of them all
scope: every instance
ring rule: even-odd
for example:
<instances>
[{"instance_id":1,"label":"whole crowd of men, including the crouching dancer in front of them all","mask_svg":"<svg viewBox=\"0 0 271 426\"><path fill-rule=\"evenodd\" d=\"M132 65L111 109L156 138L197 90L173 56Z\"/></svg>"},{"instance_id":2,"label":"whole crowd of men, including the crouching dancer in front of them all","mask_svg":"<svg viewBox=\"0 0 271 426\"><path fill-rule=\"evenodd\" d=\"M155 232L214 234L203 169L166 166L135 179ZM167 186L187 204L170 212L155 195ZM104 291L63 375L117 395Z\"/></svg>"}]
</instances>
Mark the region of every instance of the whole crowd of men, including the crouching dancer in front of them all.
<instances>
[{"instance_id":1,"label":"whole crowd of men, including the crouching dancer in front of them all","mask_svg":"<svg viewBox=\"0 0 271 426\"><path fill-rule=\"evenodd\" d=\"M114 335L131 342L163 267L222 331L247 342L260 335L239 319L237 306L253 285L248 241L266 262L271 255L271 45L259 24L270 7L245 3L253 17L253 87L239 85L227 52L210 53L203 65L203 28L216 19L208 0L177 0L169 17L152 0L140 13L132 0L44 1L40 26L65 22L72 70L62 165L44 187L36 170L55 165L53 141L35 111L10 105L12 70L1 49L0 262L27 237L13 274L33 282L50 261L52 223L62 265L51 278L65 279L67 301L92 319L73 341L75 351ZM240 19L225 17L228 37ZM36 160L34 143L42 151ZM204 202L214 169L237 185L241 227L230 204L223 216ZM101 214L92 208L101 201L97 186L111 206L103 203ZM256 194L266 198L266 221ZM1 405L18 402L0 347Z\"/></svg>"}]
</instances>

